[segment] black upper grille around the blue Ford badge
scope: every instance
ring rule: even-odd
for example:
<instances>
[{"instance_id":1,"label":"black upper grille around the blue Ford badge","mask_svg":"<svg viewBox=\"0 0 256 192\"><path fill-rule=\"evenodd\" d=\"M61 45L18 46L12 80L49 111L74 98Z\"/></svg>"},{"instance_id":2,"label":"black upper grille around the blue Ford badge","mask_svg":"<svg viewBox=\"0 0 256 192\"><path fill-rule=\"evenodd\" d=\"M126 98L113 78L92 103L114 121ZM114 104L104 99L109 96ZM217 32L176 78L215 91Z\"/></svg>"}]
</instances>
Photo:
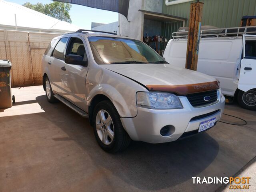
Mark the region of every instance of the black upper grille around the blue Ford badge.
<instances>
[{"instance_id":1,"label":"black upper grille around the blue Ford badge","mask_svg":"<svg viewBox=\"0 0 256 192\"><path fill-rule=\"evenodd\" d=\"M208 104L212 104L217 101L218 99L218 94L217 90L212 90L212 91L206 91L206 92L200 92L200 93L192 93L186 95L188 98L188 101L193 107L199 107L199 106L204 106ZM210 100L205 101L204 97L210 96Z\"/></svg>"}]
</instances>

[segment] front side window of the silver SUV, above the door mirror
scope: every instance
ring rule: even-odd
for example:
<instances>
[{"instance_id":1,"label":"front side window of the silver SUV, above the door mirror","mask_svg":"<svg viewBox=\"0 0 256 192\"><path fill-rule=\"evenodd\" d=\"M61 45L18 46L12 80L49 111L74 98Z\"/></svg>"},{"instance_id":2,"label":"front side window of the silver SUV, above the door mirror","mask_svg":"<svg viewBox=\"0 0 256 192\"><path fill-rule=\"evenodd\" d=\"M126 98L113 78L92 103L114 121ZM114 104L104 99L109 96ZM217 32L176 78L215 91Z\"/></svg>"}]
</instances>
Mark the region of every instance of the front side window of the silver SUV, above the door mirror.
<instances>
[{"instance_id":1,"label":"front side window of the silver SUV, above the door mirror","mask_svg":"<svg viewBox=\"0 0 256 192\"><path fill-rule=\"evenodd\" d=\"M72 37L70 39L66 55L80 55L83 59L87 59L84 43L80 38Z\"/></svg>"}]
</instances>

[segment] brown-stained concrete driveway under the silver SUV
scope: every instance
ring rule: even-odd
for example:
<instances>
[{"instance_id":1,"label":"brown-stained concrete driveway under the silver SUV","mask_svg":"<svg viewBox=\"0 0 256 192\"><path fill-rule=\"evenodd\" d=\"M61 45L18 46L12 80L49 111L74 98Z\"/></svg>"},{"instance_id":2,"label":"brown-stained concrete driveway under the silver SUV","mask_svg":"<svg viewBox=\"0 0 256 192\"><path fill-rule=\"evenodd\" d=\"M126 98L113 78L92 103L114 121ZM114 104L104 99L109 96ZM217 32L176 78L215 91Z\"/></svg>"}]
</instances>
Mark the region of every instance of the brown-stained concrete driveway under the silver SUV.
<instances>
[{"instance_id":1,"label":"brown-stained concrete driveway under the silver SUV","mask_svg":"<svg viewBox=\"0 0 256 192\"><path fill-rule=\"evenodd\" d=\"M225 113L248 125L219 122L184 140L132 142L126 151L108 154L88 119L48 103L42 86L12 90L16 103L0 109L0 192L215 191L221 184L193 184L192 177L233 176L256 156L256 112L236 104Z\"/></svg>"}]
</instances>

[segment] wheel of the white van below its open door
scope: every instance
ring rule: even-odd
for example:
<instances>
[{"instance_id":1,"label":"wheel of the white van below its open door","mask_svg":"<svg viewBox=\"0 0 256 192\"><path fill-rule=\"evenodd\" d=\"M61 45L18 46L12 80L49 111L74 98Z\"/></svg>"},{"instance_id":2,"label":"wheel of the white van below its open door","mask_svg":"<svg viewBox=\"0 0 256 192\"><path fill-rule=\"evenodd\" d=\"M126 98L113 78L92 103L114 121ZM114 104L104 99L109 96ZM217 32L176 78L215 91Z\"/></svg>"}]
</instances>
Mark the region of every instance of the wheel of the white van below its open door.
<instances>
[{"instance_id":1,"label":"wheel of the white van below its open door","mask_svg":"<svg viewBox=\"0 0 256 192\"><path fill-rule=\"evenodd\" d=\"M238 92L237 100L242 108L256 110L256 89Z\"/></svg>"}]
</instances>

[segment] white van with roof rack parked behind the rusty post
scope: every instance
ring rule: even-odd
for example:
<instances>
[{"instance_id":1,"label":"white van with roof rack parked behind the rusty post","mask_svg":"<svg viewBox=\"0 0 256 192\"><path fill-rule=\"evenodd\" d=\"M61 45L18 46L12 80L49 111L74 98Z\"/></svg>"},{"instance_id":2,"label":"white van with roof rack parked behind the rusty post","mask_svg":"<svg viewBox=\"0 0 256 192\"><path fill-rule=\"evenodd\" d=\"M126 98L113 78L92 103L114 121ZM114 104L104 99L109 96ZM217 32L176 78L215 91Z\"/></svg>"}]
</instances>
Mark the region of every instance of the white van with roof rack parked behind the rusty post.
<instances>
[{"instance_id":1,"label":"white van with roof rack parked behind the rusty post","mask_svg":"<svg viewBox=\"0 0 256 192\"><path fill-rule=\"evenodd\" d=\"M220 81L222 92L256 110L256 27L202 30L197 71ZM221 31L221 32L220 32ZM175 32L164 52L170 64L185 68L187 33Z\"/></svg>"}]
</instances>

